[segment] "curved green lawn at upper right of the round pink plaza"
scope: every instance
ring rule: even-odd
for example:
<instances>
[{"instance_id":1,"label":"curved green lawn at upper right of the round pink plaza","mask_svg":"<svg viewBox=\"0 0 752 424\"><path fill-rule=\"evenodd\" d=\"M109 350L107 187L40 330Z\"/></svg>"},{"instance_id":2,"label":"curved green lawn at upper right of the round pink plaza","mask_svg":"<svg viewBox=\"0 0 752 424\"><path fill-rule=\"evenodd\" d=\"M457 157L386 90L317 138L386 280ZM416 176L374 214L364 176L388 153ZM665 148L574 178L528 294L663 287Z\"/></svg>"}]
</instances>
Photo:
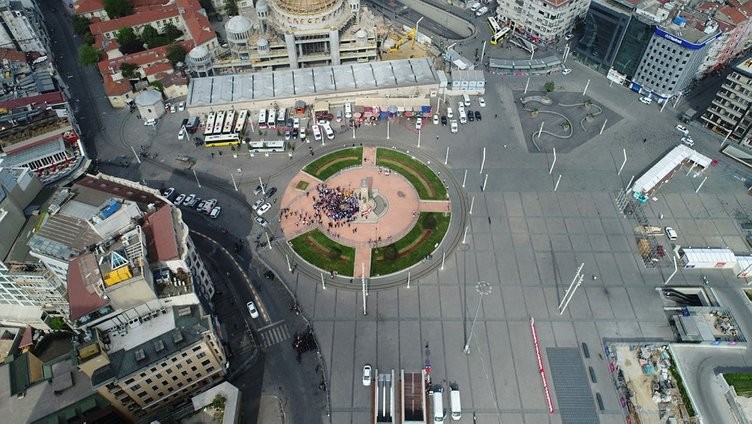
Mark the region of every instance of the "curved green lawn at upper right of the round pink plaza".
<instances>
[{"instance_id":1,"label":"curved green lawn at upper right of the round pink plaza","mask_svg":"<svg viewBox=\"0 0 752 424\"><path fill-rule=\"evenodd\" d=\"M376 150L376 164L399 172L410 181L424 200L446 200L447 190L431 168L412 157L391 149Z\"/></svg>"}]
</instances>

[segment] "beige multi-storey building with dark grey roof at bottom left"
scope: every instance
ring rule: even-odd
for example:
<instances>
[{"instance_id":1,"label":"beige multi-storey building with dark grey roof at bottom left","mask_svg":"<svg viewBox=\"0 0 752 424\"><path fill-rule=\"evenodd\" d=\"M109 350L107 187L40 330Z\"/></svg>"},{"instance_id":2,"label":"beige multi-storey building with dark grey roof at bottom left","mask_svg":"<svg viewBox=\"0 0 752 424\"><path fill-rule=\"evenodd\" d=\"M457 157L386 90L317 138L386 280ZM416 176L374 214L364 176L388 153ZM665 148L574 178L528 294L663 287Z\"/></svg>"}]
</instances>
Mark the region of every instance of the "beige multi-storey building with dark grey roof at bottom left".
<instances>
[{"instance_id":1,"label":"beige multi-storey building with dark grey roof at bottom left","mask_svg":"<svg viewBox=\"0 0 752 424\"><path fill-rule=\"evenodd\" d=\"M90 327L77 340L78 368L133 421L190 405L224 378L224 349L198 305L154 309L103 328Z\"/></svg>"}]
</instances>

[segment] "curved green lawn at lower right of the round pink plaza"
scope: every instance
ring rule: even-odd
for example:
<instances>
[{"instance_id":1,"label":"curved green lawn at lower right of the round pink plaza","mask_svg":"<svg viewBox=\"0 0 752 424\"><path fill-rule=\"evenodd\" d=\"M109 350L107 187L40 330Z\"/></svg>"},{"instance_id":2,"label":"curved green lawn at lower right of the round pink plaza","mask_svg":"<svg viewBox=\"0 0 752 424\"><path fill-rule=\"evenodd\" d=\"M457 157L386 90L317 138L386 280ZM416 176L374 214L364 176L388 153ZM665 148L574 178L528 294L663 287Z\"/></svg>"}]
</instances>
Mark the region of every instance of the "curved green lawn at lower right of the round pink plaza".
<instances>
[{"instance_id":1,"label":"curved green lawn at lower right of the round pink plaza","mask_svg":"<svg viewBox=\"0 0 752 424\"><path fill-rule=\"evenodd\" d=\"M422 212L418 222L409 233L389 246L373 249L371 254L371 275L388 275L408 268L423 260L429 253L436 249L436 244L441 240L449 228L450 215L440 212ZM426 229L426 221L434 220L432 230ZM428 225L430 227L430 225ZM394 255L396 258L387 259Z\"/></svg>"}]
</instances>

